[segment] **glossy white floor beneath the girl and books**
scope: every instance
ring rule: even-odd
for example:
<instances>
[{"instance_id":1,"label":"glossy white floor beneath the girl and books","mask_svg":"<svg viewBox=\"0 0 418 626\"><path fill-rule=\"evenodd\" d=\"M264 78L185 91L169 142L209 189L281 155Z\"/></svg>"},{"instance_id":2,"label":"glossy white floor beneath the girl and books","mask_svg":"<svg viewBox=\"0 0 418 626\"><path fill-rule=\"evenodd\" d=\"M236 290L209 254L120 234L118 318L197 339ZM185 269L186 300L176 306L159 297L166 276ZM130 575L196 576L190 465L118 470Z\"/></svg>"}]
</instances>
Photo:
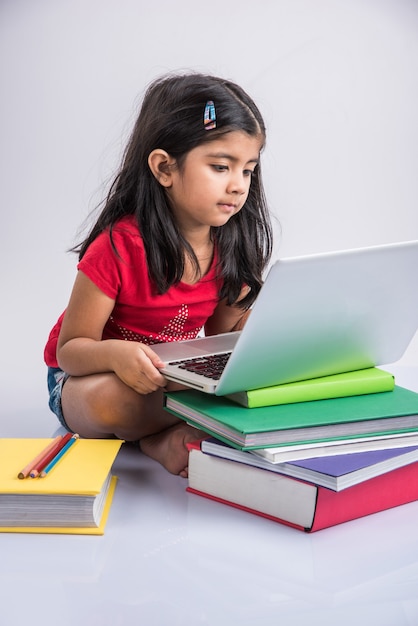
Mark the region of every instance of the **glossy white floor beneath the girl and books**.
<instances>
[{"instance_id":1,"label":"glossy white floor beneath the girl and books","mask_svg":"<svg viewBox=\"0 0 418 626\"><path fill-rule=\"evenodd\" d=\"M45 409L0 436L55 431ZM418 624L418 503L308 535L187 494L132 448L114 470L103 537L0 535L2 625Z\"/></svg>"}]
</instances>

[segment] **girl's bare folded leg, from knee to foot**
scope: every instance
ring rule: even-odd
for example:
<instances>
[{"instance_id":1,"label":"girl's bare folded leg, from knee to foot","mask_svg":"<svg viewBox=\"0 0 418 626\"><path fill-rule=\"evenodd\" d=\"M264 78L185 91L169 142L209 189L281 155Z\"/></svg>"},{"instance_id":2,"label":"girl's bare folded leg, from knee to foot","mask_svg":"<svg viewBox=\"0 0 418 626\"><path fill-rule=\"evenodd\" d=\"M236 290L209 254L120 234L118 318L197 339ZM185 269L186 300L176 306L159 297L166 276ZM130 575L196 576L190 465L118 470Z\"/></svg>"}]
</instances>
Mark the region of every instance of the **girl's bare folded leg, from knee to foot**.
<instances>
[{"instance_id":1,"label":"girl's bare folded leg, from knee to foot","mask_svg":"<svg viewBox=\"0 0 418 626\"><path fill-rule=\"evenodd\" d=\"M162 391L140 395L111 373L70 376L62 389L62 409L73 432L86 438L139 440L144 454L183 477L186 444L203 436L164 410Z\"/></svg>"}]
</instances>

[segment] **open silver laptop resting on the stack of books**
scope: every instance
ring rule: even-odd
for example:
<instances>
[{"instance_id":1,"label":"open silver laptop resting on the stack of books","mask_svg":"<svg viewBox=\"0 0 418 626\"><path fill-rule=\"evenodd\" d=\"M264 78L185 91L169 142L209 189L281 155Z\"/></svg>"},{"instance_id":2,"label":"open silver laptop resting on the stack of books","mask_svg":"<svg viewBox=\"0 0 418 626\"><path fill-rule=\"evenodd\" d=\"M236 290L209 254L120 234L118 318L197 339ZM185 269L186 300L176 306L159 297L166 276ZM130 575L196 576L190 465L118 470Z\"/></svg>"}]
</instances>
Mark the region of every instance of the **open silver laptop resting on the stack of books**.
<instances>
[{"instance_id":1,"label":"open silver laptop resting on the stack of books","mask_svg":"<svg viewBox=\"0 0 418 626\"><path fill-rule=\"evenodd\" d=\"M242 331L152 349L167 379L216 395L393 363L418 327L417 269L418 241L280 259Z\"/></svg>"}]
</instances>

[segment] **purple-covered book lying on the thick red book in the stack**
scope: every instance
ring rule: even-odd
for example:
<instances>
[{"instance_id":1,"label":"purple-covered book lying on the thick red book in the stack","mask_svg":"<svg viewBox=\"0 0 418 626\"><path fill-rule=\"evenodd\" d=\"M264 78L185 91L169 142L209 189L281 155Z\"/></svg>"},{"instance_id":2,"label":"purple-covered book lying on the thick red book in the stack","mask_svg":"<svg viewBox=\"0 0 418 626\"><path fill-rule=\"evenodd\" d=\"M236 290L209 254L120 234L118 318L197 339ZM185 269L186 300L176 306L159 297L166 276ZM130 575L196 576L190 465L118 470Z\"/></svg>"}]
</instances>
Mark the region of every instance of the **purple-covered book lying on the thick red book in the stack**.
<instances>
[{"instance_id":1,"label":"purple-covered book lying on the thick red book in the stack","mask_svg":"<svg viewBox=\"0 0 418 626\"><path fill-rule=\"evenodd\" d=\"M202 441L201 448L207 454L306 480L333 491L347 489L418 460L418 446L354 452L274 464L251 452L231 448L214 438Z\"/></svg>"}]
</instances>

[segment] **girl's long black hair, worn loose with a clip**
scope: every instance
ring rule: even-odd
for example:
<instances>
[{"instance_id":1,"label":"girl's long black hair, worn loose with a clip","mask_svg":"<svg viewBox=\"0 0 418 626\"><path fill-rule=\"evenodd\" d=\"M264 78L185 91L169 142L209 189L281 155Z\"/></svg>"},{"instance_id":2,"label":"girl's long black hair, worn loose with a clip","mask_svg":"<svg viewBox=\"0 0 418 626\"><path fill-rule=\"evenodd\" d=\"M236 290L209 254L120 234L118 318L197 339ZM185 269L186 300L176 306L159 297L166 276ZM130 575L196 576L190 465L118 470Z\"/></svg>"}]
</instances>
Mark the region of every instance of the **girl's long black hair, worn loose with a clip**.
<instances>
[{"instance_id":1,"label":"girl's long black hair, worn loose with a clip","mask_svg":"<svg viewBox=\"0 0 418 626\"><path fill-rule=\"evenodd\" d=\"M203 112L210 100L216 107L216 128L207 131ZM261 137L264 145L263 118L253 100L235 83L198 73L157 79L145 92L103 209L88 237L73 251L81 259L103 230L110 228L112 236L120 218L134 215L144 241L149 275L158 293L166 292L181 280L185 254L196 267L198 264L177 227L164 188L149 168L148 156L160 148L181 168L190 150L237 130ZM240 306L247 308L258 295L272 251L272 228L259 165L242 209L223 226L213 227L211 234L223 281L219 297L234 303L245 283L250 289Z\"/></svg>"}]
</instances>

